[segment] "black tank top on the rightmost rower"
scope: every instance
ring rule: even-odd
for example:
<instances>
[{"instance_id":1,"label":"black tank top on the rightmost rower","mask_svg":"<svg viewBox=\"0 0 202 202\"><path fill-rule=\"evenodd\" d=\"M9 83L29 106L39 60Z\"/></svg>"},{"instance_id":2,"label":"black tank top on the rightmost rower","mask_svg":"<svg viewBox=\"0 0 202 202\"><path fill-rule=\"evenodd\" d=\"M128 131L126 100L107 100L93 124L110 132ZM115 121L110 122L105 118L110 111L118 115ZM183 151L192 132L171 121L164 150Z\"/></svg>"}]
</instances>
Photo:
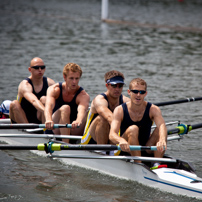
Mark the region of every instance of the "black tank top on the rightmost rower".
<instances>
[{"instance_id":1,"label":"black tank top on the rightmost rower","mask_svg":"<svg viewBox=\"0 0 202 202\"><path fill-rule=\"evenodd\" d=\"M134 122L130 118L126 103L122 104L124 116L123 121L121 122L121 135L123 135L129 126L137 125L139 127L139 143L140 145L145 146L149 139L152 126L152 120L149 117L149 110L151 105L152 104L148 102L142 120Z\"/></svg>"}]
</instances>

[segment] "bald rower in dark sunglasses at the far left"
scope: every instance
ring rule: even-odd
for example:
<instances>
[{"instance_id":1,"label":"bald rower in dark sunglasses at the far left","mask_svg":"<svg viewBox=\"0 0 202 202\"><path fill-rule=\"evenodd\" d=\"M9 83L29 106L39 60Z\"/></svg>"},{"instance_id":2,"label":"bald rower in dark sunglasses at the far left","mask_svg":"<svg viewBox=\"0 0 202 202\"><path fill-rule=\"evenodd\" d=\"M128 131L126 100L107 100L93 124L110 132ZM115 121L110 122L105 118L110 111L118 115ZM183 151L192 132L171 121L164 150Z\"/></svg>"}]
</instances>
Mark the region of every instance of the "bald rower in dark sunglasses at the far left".
<instances>
[{"instance_id":1,"label":"bald rower in dark sunglasses at the far left","mask_svg":"<svg viewBox=\"0 0 202 202\"><path fill-rule=\"evenodd\" d=\"M10 104L12 123L44 123L46 91L55 82L44 77L46 66L41 58L35 57L28 67L31 75L18 86L17 100Z\"/></svg>"}]
</instances>

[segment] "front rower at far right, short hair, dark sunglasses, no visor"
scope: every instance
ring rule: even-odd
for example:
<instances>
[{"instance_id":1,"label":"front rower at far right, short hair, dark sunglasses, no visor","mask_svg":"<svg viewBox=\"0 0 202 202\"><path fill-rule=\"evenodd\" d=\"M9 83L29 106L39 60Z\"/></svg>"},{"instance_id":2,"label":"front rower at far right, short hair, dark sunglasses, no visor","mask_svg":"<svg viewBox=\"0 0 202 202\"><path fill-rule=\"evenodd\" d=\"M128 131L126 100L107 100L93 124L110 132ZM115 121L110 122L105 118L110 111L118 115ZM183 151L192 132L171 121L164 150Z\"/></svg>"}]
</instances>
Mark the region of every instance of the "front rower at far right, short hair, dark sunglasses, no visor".
<instances>
[{"instance_id":1,"label":"front rower at far right, short hair, dark sunglasses, no visor","mask_svg":"<svg viewBox=\"0 0 202 202\"><path fill-rule=\"evenodd\" d=\"M131 101L114 110L109 139L132 156L141 156L141 151L130 151L129 145L157 146L154 156L163 157L167 146L167 129L159 107L144 100L147 83L140 78L133 79L128 94ZM153 121L157 128L150 135ZM119 129L121 137L118 136Z\"/></svg>"}]
</instances>

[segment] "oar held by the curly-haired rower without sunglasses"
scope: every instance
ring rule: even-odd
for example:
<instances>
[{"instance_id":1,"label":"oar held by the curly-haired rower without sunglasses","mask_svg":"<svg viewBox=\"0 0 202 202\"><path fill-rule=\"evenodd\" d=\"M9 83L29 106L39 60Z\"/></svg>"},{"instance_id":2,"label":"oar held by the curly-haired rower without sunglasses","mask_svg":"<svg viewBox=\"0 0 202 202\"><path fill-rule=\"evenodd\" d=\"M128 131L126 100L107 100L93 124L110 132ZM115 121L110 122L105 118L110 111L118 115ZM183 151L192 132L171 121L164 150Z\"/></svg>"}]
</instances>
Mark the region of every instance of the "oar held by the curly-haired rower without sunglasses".
<instances>
[{"instance_id":1,"label":"oar held by the curly-haired rower without sunglasses","mask_svg":"<svg viewBox=\"0 0 202 202\"><path fill-rule=\"evenodd\" d=\"M72 124L54 124L53 128L71 128ZM13 123L13 124L0 124L0 129L34 129L45 128L45 124L34 123Z\"/></svg>"}]
</instances>

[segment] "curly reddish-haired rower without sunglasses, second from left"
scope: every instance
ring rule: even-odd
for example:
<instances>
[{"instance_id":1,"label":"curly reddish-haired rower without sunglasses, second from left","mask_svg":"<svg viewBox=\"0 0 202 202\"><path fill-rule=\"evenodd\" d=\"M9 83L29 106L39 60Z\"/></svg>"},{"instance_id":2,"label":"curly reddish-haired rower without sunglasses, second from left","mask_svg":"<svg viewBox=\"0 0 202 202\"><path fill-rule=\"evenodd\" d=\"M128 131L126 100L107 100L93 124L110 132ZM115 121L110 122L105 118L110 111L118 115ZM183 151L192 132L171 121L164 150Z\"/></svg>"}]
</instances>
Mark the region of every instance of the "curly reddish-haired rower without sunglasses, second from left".
<instances>
[{"instance_id":1,"label":"curly reddish-haired rower without sunglasses, second from left","mask_svg":"<svg viewBox=\"0 0 202 202\"><path fill-rule=\"evenodd\" d=\"M82 135L90 97L80 87L79 80L82 76L81 67L75 63L68 63L63 69L64 82L56 83L47 91L45 106L45 125L54 134ZM72 124L72 128L53 130L53 124ZM77 126L79 126L77 128ZM68 139L64 141L69 142Z\"/></svg>"}]
</instances>

